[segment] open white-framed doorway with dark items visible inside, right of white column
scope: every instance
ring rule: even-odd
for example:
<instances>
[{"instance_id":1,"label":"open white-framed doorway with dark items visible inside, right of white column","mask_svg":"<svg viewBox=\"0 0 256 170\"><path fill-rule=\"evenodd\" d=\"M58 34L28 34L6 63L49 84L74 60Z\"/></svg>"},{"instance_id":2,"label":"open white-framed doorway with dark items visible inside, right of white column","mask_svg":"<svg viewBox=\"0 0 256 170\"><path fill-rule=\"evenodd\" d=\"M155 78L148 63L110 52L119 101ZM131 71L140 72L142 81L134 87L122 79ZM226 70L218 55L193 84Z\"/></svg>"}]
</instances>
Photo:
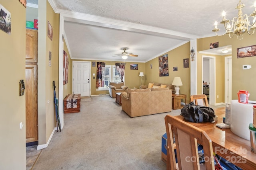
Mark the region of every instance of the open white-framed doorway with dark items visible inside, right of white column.
<instances>
[{"instance_id":1,"label":"open white-framed doorway with dark items visible inside, right of white column","mask_svg":"<svg viewBox=\"0 0 256 170\"><path fill-rule=\"evenodd\" d=\"M215 57L202 55L202 94L206 94L210 105L216 103L215 66Z\"/></svg>"}]
</instances>

